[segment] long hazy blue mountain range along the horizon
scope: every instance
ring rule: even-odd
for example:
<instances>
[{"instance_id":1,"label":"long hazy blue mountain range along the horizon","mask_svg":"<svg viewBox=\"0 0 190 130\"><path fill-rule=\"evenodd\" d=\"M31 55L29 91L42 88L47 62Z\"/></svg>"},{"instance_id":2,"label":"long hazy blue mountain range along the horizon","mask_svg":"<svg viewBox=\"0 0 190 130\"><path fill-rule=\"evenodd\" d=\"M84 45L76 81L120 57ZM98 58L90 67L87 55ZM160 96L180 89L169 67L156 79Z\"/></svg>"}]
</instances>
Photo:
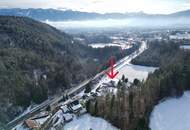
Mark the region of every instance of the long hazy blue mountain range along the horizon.
<instances>
[{"instance_id":1,"label":"long hazy blue mountain range along the horizon","mask_svg":"<svg viewBox=\"0 0 190 130\"><path fill-rule=\"evenodd\" d=\"M87 19L126 19L126 18L175 18L190 17L190 10L176 12L169 15L137 13L88 13L72 10L55 9L0 9L0 15L27 16L36 20L66 21L66 20L87 20Z\"/></svg>"}]
</instances>

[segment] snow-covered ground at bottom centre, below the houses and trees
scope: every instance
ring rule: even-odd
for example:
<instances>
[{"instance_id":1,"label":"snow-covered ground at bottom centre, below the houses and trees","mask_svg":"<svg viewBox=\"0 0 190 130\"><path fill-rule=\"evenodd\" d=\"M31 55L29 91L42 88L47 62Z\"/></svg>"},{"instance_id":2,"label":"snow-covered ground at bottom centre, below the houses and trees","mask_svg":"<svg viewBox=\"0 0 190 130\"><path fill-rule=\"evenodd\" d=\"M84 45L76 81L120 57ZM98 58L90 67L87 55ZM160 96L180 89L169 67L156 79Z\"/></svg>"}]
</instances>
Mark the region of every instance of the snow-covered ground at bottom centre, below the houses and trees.
<instances>
[{"instance_id":1,"label":"snow-covered ground at bottom centre, below the houses and trees","mask_svg":"<svg viewBox=\"0 0 190 130\"><path fill-rule=\"evenodd\" d=\"M74 121L67 123L64 130L119 130L102 118L85 114Z\"/></svg>"}]
</instances>

